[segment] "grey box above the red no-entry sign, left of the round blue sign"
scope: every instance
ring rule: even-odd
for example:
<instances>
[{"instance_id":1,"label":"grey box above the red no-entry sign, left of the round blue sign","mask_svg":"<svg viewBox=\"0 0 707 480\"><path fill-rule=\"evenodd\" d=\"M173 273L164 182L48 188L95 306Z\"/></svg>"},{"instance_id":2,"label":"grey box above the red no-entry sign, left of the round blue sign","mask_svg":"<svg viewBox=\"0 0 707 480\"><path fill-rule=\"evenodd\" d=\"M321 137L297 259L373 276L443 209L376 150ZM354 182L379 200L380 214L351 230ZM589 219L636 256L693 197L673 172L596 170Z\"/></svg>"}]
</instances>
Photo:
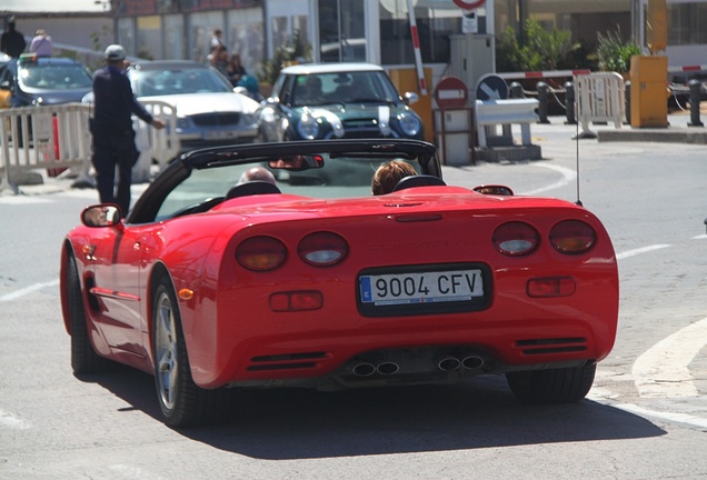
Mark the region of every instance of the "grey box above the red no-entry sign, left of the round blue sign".
<instances>
[{"instance_id":1,"label":"grey box above the red no-entry sign, left of the round blue sign","mask_svg":"<svg viewBox=\"0 0 707 480\"><path fill-rule=\"evenodd\" d=\"M475 86L487 73L496 72L496 40L491 34L452 34L449 76L469 87L469 100L476 100Z\"/></svg>"}]
</instances>

